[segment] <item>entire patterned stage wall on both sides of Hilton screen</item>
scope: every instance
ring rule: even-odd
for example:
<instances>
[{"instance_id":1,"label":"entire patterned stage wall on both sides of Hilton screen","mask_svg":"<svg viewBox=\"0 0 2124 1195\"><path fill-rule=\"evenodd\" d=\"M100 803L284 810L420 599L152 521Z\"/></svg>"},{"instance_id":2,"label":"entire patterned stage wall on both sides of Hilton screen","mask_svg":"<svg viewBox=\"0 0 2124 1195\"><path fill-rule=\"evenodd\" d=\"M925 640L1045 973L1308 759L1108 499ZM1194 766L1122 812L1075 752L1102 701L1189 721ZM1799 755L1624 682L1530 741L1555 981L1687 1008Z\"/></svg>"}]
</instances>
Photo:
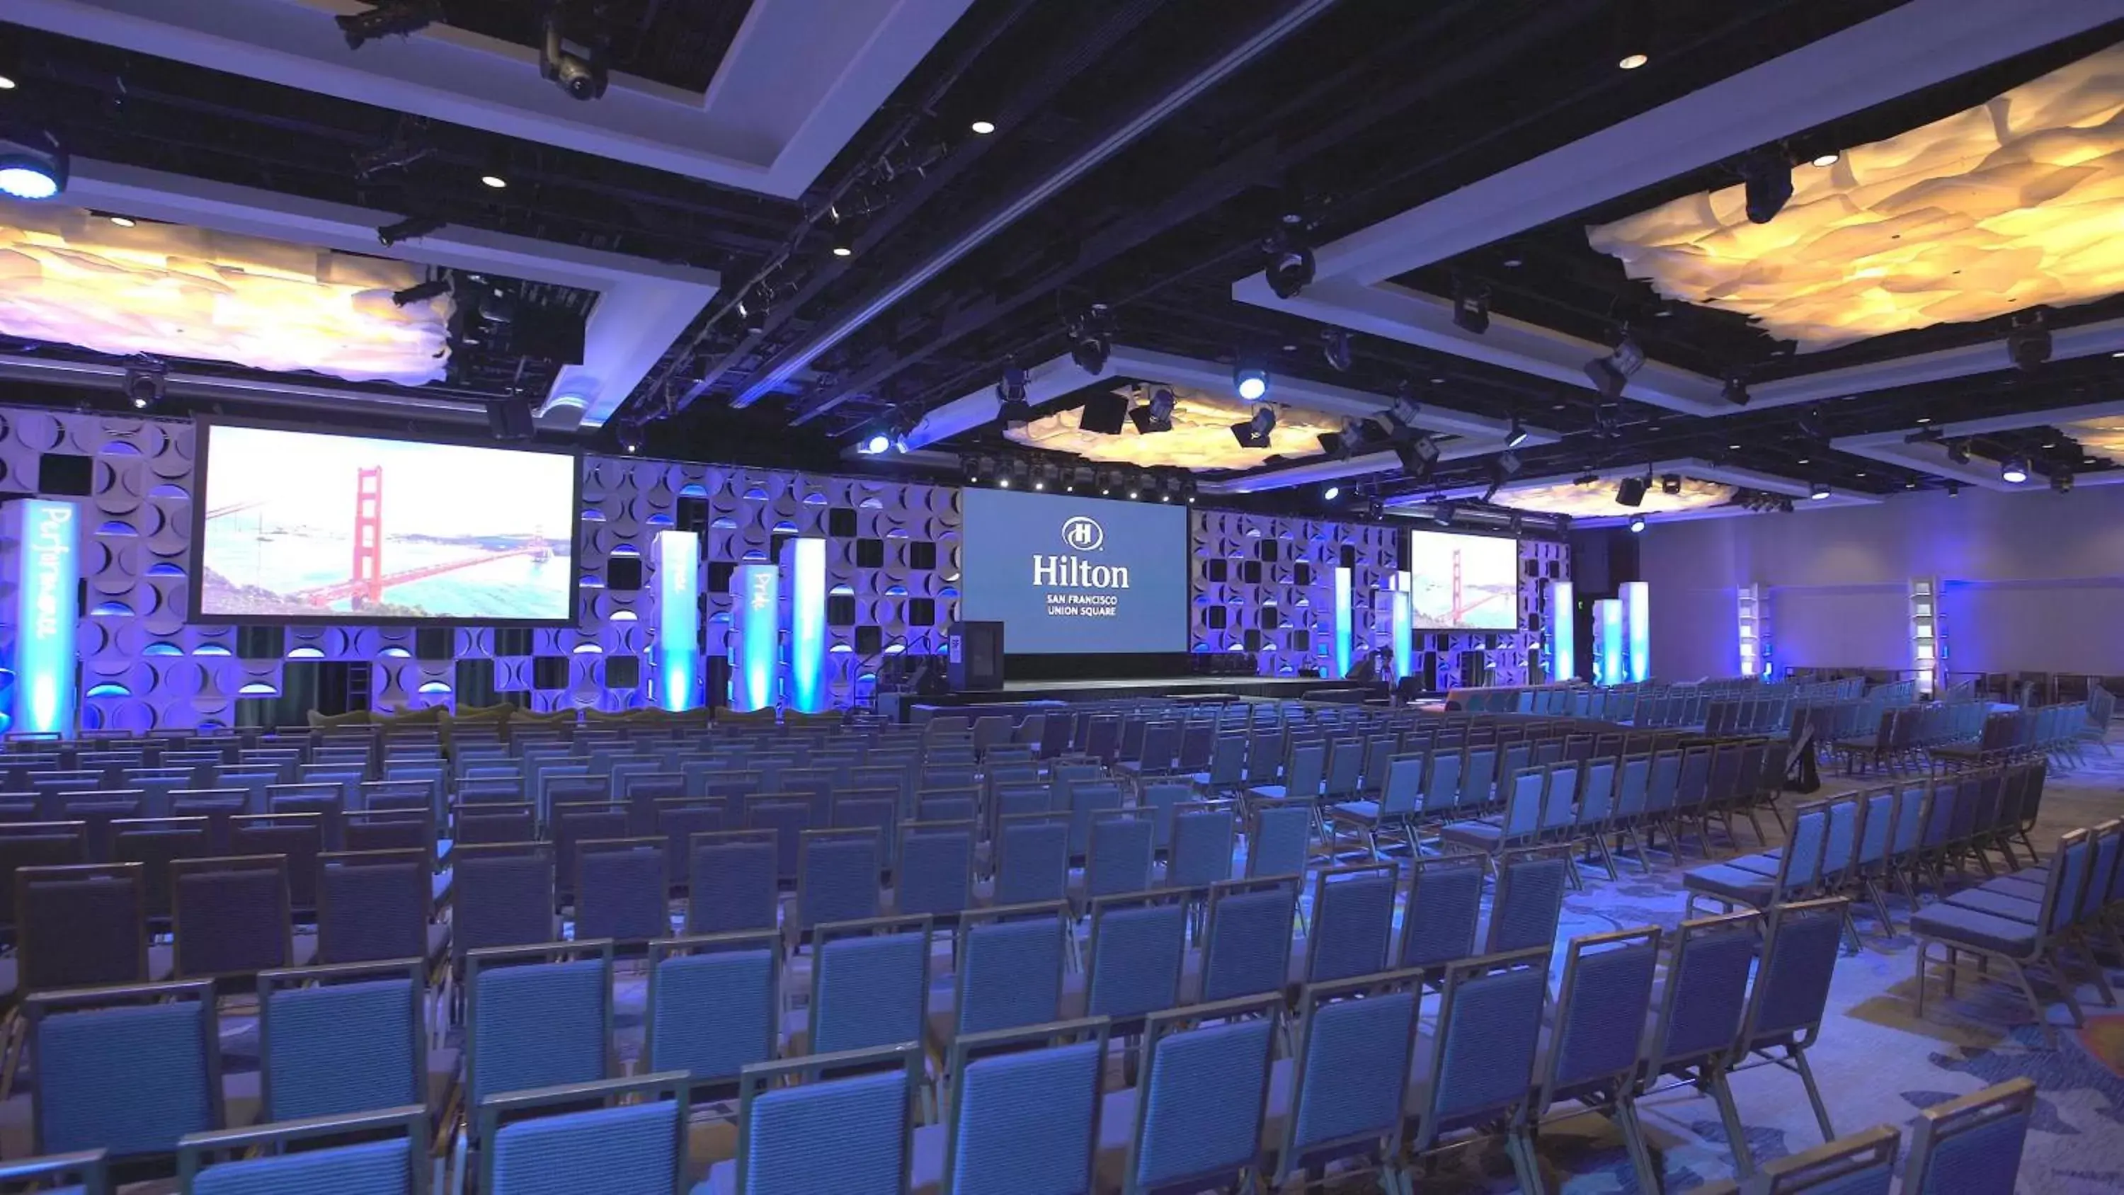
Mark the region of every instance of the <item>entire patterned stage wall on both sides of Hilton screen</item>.
<instances>
[{"instance_id":1,"label":"entire patterned stage wall on both sides of Hilton screen","mask_svg":"<svg viewBox=\"0 0 2124 1195\"><path fill-rule=\"evenodd\" d=\"M285 660L365 660L374 664L370 705L406 709L455 700L457 660L493 660L495 690L531 709L629 709L650 700L650 637L656 626L656 575L650 543L658 531L699 526L705 647L722 654L731 599L726 569L771 560L780 537L824 535L828 541L828 666L833 700L845 705L860 675L875 671L888 647L941 652L958 616L958 490L886 480L813 478L769 469L682 465L612 456L584 458L582 622L578 628L531 630L529 650L497 654L482 626L450 633L450 658L414 658L412 628L316 626L287 628L280 658L240 658L236 626L187 626L191 569L193 425L185 420L68 414L0 408L0 490L72 497L85 505L83 618L79 633L81 709L87 728L189 728L232 724L238 698L280 692ZM1243 582L1243 560L1260 560L1260 539L1279 543L1257 584ZM1264 633L1264 673L1289 675L1332 650L1334 565L1342 545L1355 550L1355 592L1381 586L1393 562L1393 531L1230 512L1194 512L1194 618L1200 650L1245 645L1260 628L1268 601L1277 626ZM639 590L612 590L605 571L616 556L644 556ZM1521 545L1561 567L1563 545ZM1209 582L1211 560L1228 560L1228 579ZM1311 565L1298 584L1296 565ZM1523 577L1521 613L1540 613L1542 586ZM1206 626L1209 605L1223 607L1226 628ZM1294 650L1291 630L1311 641ZM0 635L6 635L0 628ZM1359 596L1357 643L1383 641L1370 605ZM1453 652L1483 647L1480 635L1442 639L1440 683L1457 683ZM1525 645L1538 635L1497 637L1497 683L1525 677ZM523 647L518 643L516 647ZM1419 643L1421 650L1421 643ZM605 666L635 658L635 683L607 686ZM1453 669L1449 673L1449 669Z\"/></svg>"}]
</instances>

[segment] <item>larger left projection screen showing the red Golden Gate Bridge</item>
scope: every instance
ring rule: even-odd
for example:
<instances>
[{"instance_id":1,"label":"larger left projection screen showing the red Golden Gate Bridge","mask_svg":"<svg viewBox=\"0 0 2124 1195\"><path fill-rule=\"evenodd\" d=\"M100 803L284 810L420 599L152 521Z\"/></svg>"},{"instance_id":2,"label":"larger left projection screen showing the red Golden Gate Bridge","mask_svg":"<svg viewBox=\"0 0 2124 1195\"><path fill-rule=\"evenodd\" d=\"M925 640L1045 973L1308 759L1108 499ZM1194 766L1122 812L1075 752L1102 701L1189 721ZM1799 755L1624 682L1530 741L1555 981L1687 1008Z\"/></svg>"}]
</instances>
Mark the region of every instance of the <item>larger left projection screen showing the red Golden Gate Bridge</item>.
<instances>
[{"instance_id":1,"label":"larger left projection screen showing the red Golden Gate Bridge","mask_svg":"<svg viewBox=\"0 0 2124 1195\"><path fill-rule=\"evenodd\" d=\"M576 620L576 456L200 425L195 622Z\"/></svg>"}]
</instances>

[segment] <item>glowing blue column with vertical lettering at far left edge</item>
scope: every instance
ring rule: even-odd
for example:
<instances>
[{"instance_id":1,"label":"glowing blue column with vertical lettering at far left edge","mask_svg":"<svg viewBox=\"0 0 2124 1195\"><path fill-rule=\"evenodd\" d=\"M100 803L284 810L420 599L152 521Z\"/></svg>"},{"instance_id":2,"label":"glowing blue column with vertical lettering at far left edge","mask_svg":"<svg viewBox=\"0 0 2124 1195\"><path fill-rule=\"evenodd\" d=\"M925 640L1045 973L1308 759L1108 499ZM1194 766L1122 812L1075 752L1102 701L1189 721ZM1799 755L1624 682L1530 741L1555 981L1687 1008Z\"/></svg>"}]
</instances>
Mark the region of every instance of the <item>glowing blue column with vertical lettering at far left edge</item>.
<instances>
[{"instance_id":1,"label":"glowing blue column with vertical lettering at far left edge","mask_svg":"<svg viewBox=\"0 0 2124 1195\"><path fill-rule=\"evenodd\" d=\"M0 507L4 577L15 586L15 688L8 730L74 732L74 622L81 616L81 512L21 499Z\"/></svg>"}]
</instances>

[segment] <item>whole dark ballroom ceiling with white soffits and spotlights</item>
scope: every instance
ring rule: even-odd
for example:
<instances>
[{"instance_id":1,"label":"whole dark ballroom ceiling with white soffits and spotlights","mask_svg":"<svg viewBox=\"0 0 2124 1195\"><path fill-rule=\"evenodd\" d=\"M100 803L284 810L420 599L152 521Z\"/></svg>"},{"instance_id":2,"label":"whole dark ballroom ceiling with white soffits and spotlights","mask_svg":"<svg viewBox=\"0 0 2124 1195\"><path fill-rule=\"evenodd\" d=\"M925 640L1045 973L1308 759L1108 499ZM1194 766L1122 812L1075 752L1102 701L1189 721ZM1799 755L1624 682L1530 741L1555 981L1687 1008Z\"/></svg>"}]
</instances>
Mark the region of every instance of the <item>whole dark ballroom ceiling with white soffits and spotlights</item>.
<instances>
[{"instance_id":1,"label":"whole dark ballroom ceiling with white soffits and spotlights","mask_svg":"<svg viewBox=\"0 0 2124 1195\"><path fill-rule=\"evenodd\" d=\"M2124 202L2124 0L605 0L571 8L607 47L588 102L539 76L535 6L444 0L348 49L333 17L367 11L19 0L0 123L64 136L68 208L361 253L472 310L491 284L582 352L491 323L465 344L463 318L429 380L168 352L172 414L529 401L552 441L1189 469L1204 499L1306 509L1328 486L1557 509L1655 465L1693 516L2020 488L2016 458L2024 488L2124 480L2124 267L2086 236ZM1763 153L1795 193L1757 225ZM431 231L380 244L401 221ZM1287 295L1279 236L1315 259ZM2050 354L2022 369L2028 308ZM1646 363L1608 399L1585 365L1625 329ZM36 325L0 344L0 397L115 401L138 352ZM1230 435L1238 367L1270 376L1270 450ZM1158 386L1177 431L1077 429ZM1351 418L1436 465L1323 452ZM911 452L852 452L881 429Z\"/></svg>"}]
</instances>

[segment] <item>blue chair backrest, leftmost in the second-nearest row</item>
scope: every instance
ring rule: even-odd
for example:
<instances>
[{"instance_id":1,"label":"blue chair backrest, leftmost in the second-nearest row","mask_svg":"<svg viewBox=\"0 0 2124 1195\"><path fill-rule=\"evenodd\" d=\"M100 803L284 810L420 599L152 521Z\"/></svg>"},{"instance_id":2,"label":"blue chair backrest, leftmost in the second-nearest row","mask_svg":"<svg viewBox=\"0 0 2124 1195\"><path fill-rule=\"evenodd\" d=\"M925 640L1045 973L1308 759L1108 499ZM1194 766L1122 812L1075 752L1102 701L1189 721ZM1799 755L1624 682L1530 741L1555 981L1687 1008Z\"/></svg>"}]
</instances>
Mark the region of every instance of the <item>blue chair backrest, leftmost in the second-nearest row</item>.
<instances>
[{"instance_id":1,"label":"blue chair backrest, leftmost in the second-nearest row","mask_svg":"<svg viewBox=\"0 0 2124 1195\"><path fill-rule=\"evenodd\" d=\"M212 981L30 993L23 1015L36 1153L166 1155L221 1125Z\"/></svg>"}]
</instances>

